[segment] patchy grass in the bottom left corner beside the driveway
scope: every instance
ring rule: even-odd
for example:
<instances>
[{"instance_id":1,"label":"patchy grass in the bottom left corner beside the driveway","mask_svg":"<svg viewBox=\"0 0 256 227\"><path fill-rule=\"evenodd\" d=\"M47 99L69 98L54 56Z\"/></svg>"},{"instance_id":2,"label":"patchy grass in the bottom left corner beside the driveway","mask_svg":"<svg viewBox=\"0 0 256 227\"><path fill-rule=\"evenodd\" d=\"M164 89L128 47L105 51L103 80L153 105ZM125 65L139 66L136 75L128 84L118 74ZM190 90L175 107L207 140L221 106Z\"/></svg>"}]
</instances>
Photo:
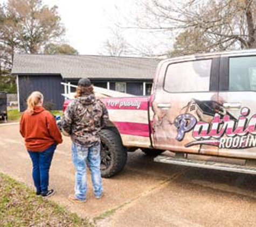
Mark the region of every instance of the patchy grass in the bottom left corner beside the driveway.
<instances>
[{"instance_id":1,"label":"patchy grass in the bottom left corner beside the driveway","mask_svg":"<svg viewBox=\"0 0 256 227\"><path fill-rule=\"evenodd\" d=\"M0 173L0 226L93 226Z\"/></svg>"}]
</instances>

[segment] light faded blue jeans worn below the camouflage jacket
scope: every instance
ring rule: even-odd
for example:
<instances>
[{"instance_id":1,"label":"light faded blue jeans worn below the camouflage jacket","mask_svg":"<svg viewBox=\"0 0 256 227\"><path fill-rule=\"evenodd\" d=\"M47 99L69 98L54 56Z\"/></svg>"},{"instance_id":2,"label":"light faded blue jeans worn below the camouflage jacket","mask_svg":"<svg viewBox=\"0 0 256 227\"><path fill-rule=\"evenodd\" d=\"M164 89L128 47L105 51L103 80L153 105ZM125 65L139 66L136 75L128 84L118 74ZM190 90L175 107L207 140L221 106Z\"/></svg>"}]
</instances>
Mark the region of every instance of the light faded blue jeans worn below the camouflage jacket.
<instances>
[{"instance_id":1,"label":"light faded blue jeans worn below the camouflage jacket","mask_svg":"<svg viewBox=\"0 0 256 227\"><path fill-rule=\"evenodd\" d=\"M73 143L72 158L76 169L75 197L82 201L86 200L86 159L88 160L89 169L91 171L94 195L101 196L103 188L100 173L100 144L91 147L83 147Z\"/></svg>"}]
</instances>

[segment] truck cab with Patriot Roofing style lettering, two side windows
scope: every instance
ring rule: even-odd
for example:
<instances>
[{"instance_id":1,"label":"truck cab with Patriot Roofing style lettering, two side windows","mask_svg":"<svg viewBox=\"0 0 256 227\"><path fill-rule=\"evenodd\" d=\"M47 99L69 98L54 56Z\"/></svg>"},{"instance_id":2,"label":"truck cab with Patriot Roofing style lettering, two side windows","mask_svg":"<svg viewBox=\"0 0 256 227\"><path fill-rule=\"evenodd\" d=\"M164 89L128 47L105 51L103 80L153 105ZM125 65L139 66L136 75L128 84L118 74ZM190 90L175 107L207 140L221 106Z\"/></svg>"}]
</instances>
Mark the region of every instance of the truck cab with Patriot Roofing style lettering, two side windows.
<instances>
[{"instance_id":1,"label":"truck cab with Patriot Roofing style lettering, two side windows","mask_svg":"<svg viewBox=\"0 0 256 227\"><path fill-rule=\"evenodd\" d=\"M167 60L154 83L153 146L255 159L256 52Z\"/></svg>"}]
</instances>

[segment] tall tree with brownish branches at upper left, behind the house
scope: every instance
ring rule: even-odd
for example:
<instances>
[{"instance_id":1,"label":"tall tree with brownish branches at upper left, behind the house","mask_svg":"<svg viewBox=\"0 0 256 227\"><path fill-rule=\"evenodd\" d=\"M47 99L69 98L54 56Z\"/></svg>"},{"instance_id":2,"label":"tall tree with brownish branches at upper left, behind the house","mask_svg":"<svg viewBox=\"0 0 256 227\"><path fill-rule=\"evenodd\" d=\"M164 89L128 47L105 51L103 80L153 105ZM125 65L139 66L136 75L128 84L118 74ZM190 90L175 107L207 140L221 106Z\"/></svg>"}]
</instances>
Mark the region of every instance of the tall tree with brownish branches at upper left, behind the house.
<instances>
[{"instance_id":1,"label":"tall tree with brownish branches at upper left, behind the house","mask_svg":"<svg viewBox=\"0 0 256 227\"><path fill-rule=\"evenodd\" d=\"M7 65L11 66L15 52L39 53L46 44L64 35L57 9L41 0L9 0L0 5L1 53L5 53Z\"/></svg>"}]
</instances>

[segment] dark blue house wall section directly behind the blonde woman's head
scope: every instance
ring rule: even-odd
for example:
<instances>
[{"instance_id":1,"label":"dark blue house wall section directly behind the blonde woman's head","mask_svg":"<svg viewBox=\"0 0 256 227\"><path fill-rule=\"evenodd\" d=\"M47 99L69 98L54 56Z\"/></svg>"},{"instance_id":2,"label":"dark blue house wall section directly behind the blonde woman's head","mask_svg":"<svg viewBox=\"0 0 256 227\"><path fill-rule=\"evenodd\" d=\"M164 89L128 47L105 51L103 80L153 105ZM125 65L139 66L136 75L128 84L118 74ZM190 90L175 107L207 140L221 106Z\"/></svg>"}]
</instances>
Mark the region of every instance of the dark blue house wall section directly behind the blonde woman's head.
<instances>
[{"instance_id":1,"label":"dark blue house wall section directly behind the blonde woman's head","mask_svg":"<svg viewBox=\"0 0 256 227\"><path fill-rule=\"evenodd\" d=\"M64 86L61 76L40 75L40 76L20 76L19 75L19 107L20 111L26 109L26 98L32 91L40 91L44 95L44 103L52 105L53 110L62 110L64 97Z\"/></svg>"}]
</instances>

